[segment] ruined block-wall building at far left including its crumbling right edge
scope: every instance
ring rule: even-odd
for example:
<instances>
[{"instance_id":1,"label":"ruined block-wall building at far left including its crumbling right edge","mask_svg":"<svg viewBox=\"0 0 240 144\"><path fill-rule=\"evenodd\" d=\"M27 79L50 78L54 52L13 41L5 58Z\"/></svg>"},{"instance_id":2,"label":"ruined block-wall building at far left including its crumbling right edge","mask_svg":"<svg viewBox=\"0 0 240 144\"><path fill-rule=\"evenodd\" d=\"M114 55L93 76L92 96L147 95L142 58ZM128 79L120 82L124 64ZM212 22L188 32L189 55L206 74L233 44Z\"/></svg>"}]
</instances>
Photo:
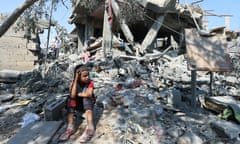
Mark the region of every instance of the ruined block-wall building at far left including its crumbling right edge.
<instances>
[{"instance_id":1,"label":"ruined block-wall building at far left including its crumbling right edge","mask_svg":"<svg viewBox=\"0 0 240 144\"><path fill-rule=\"evenodd\" d=\"M0 23L8 16L9 14L0 14ZM29 26L31 22L20 17L1 37L1 71L32 71L42 63L45 54L41 48L40 35L49 27L49 22L38 20L34 28ZM56 26L56 22L52 21L50 25ZM2 78L4 77L0 76L0 81Z\"/></svg>"}]
</instances>

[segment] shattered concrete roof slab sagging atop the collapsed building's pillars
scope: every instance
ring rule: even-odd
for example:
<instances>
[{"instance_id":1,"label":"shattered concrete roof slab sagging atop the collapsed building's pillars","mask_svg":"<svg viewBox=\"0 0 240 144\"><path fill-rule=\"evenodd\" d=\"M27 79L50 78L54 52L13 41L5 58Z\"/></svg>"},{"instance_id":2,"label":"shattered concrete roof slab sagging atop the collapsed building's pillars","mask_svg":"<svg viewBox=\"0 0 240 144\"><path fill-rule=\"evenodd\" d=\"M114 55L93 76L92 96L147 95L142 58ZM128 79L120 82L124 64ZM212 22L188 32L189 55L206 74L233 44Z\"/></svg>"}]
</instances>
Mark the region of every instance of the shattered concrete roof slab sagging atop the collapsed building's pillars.
<instances>
[{"instance_id":1,"label":"shattered concrete roof slab sagging atop the collapsed building's pillars","mask_svg":"<svg viewBox=\"0 0 240 144\"><path fill-rule=\"evenodd\" d=\"M156 15L164 13L166 15L164 25L168 28L191 28L195 27L192 16L198 20L202 15L200 8L195 7L191 7L194 12L194 15L191 15L188 9L175 0L117 0L116 2L119 4L120 14L115 16L115 19L124 18L128 25L144 22L145 25L151 26ZM92 20L103 20L104 4L103 0L75 0L69 23L85 24L87 17L91 17Z\"/></svg>"}]
</instances>

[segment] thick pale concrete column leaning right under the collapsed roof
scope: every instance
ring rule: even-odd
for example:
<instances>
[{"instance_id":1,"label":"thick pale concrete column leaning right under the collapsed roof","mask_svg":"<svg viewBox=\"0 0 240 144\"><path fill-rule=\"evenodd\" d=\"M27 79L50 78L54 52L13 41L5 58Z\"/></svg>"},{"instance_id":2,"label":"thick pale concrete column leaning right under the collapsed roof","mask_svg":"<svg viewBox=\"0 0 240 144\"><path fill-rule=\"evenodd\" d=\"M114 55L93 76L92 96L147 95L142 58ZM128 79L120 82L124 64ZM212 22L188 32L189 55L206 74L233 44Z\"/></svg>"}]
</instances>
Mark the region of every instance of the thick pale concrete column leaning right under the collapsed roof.
<instances>
[{"instance_id":1,"label":"thick pale concrete column leaning right under the collapsed roof","mask_svg":"<svg viewBox=\"0 0 240 144\"><path fill-rule=\"evenodd\" d=\"M157 33L159 29L161 28L163 21L164 21L164 15L160 15L157 20L153 23L152 27L149 29L147 35L145 36L141 48L140 48L140 53L144 53L144 51L152 45L154 42Z\"/></svg>"}]
</instances>

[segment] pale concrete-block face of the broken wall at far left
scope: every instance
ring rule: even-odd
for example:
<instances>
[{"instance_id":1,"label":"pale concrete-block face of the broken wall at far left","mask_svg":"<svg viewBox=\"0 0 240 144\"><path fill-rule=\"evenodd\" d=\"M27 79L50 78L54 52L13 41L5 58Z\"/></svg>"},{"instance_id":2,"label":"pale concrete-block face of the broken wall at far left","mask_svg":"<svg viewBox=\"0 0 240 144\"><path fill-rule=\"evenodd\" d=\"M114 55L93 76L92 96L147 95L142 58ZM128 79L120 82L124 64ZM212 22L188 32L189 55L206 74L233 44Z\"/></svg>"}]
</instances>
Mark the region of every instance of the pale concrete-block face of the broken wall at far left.
<instances>
[{"instance_id":1,"label":"pale concrete-block face of the broken wall at far left","mask_svg":"<svg viewBox=\"0 0 240 144\"><path fill-rule=\"evenodd\" d=\"M0 15L0 23L6 15ZM13 25L5 35L0 38L0 70L32 70L37 56L30 50L36 49L36 43L24 39L24 31L15 32Z\"/></svg>"}]
</instances>

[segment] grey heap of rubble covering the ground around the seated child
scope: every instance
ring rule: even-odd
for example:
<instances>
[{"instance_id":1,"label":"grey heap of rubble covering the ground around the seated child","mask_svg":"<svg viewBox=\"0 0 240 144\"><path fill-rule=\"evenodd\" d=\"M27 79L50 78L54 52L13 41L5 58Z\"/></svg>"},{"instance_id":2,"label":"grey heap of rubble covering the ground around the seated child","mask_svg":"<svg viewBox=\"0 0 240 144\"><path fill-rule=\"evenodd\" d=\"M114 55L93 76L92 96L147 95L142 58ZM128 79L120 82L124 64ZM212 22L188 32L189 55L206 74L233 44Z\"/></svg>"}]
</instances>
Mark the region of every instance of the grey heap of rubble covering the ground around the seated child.
<instances>
[{"instance_id":1,"label":"grey heap of rubble covering the ground around the seated child","mask_svg":"<svg viewBox=\"0 0 240 144\"><path fill-rule=\"evenodd\" d=\"M218 133L221 124L215 122L221 122L219 113L204 107L204 99L209 97L207 72L197 73L200 105L191 106L191 71L184 55L174 53L171 50L152 61L115 57L87 63L95 81L99 118L93 143L239 142L233 131ZM63 56L34 71L18 74L15 82L1 83L0 141L7 142L21 129L27 112L45 120L44 106L68 95L77 63L81 63L78 56ZM214 95L239 96L239 81L235 72L214 73ZM236 121L229 123L239 127ZM56 139L51 143L56 143Z\"/></svg>"}]
</instances>

